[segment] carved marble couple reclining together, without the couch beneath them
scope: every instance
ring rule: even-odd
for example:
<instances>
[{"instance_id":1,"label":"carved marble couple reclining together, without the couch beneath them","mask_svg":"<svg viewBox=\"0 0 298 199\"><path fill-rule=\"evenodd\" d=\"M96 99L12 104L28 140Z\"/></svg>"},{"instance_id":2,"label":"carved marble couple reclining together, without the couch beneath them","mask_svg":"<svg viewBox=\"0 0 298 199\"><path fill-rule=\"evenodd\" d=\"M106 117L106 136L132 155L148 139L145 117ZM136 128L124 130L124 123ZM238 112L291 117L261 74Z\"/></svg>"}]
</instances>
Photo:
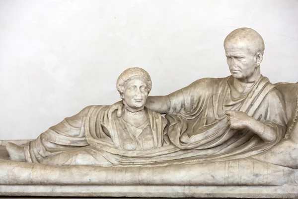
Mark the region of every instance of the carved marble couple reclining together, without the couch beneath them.
<instances>
[{"instance_id":1,"label":"carved marble couple reclining together, without the couch beneath them","mask_svg":"<svg viewBox=\"0 0 298 199\"><path fill-rule=\"evenodd\" d=\"M121 105L88 106L24 147L7 144L10 158L54 165L156 166L233 160L271 149L285 137L287 120L283 96L260 72L263 38L239 28L225 38L224 49L231 76L200 79L147 100L149 74L128 69L117 81ZM166 113L166 119L158 112Z\"/></svg>"}]
</instances>

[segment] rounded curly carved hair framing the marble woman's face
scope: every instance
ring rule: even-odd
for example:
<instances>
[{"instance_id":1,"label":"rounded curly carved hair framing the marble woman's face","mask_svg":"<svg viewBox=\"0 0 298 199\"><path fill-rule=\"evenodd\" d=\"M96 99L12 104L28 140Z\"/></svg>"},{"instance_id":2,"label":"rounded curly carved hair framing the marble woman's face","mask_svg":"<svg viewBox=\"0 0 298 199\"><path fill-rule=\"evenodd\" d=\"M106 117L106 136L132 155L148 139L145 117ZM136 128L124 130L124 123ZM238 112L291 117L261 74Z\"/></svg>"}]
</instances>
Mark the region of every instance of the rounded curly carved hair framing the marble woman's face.
<instances>
[{"instance_id":1,"label":"rounded curly carved hair framing the marble woman's face","mask_svg":"<svg viewBox=\"0 0 298 199\"><path fill-rule=\"evenodd\" d=\"M151 91L152 82L149 73L141 68L128 68L121 73L117 79L117 90L120 94L123 94L127 83L131 80L143 80L147 84L148 93Z\"/></svg>"}]
</instances>

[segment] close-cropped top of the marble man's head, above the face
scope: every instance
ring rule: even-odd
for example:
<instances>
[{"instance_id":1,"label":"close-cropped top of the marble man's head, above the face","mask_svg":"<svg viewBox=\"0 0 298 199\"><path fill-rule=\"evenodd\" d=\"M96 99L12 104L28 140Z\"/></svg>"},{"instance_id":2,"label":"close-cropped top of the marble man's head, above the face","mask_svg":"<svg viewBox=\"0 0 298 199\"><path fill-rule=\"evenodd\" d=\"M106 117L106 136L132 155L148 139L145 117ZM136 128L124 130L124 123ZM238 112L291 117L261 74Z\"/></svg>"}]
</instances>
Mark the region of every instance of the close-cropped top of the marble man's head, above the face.
<instances>
[{"instance_id":1,"label":"close-cropped top of the marble man's head, above the face","mask_svg":"<svg viewBox=\"0 0 298 199\"><path fill-rule=\"evenodd\" d=\"M262 36L251 28L238 28L229 33L224 39L224 48L227 45L239 45L247 48L251 53L264 54L265 44Z\"/></svg>"}]
</instances>

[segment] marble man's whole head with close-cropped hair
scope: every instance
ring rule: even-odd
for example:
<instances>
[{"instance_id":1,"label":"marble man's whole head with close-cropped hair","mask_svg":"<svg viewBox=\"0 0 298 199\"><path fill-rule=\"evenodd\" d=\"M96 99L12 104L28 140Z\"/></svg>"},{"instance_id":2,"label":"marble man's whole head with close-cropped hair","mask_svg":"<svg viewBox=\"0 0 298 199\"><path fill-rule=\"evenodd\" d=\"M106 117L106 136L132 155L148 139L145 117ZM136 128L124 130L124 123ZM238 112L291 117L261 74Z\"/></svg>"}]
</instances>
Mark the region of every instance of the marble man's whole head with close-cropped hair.
<instances>
[{"instance_id":1,"label":"marble man's whole head with close-cropped hair","mask_svg":"<svg viewBox=\"0 0 298 199\"><path fill-rule=\"evenodd\" d=\"M260 75L265 50L262 36L251 28L238 28L224 39L226 61L232 76L253 82Z\"/></svg>"}]
</instances>

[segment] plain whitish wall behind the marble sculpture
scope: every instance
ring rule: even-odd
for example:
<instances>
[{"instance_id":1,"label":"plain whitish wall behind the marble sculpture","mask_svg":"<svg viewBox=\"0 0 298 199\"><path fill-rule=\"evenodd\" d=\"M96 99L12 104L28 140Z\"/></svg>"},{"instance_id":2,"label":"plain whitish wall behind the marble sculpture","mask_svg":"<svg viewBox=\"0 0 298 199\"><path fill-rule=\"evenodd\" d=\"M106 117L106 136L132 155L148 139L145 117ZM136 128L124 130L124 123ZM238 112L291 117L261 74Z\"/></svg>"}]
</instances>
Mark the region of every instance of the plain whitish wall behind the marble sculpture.
<instances>
[{"instance_id":1,"label":"plain whitish wall behind the marble sculpture","mask_svg":"<svg viewBox=\"0 0 298 199\"><path fill-rule=\"evenodd\" d=\"M223 41L251 27L261 71L298 82L298 0L0 0L0 139L33 139L91 104L120 100L128 67L150 95L230 75Z\"/></svg>"}]
</instances>

